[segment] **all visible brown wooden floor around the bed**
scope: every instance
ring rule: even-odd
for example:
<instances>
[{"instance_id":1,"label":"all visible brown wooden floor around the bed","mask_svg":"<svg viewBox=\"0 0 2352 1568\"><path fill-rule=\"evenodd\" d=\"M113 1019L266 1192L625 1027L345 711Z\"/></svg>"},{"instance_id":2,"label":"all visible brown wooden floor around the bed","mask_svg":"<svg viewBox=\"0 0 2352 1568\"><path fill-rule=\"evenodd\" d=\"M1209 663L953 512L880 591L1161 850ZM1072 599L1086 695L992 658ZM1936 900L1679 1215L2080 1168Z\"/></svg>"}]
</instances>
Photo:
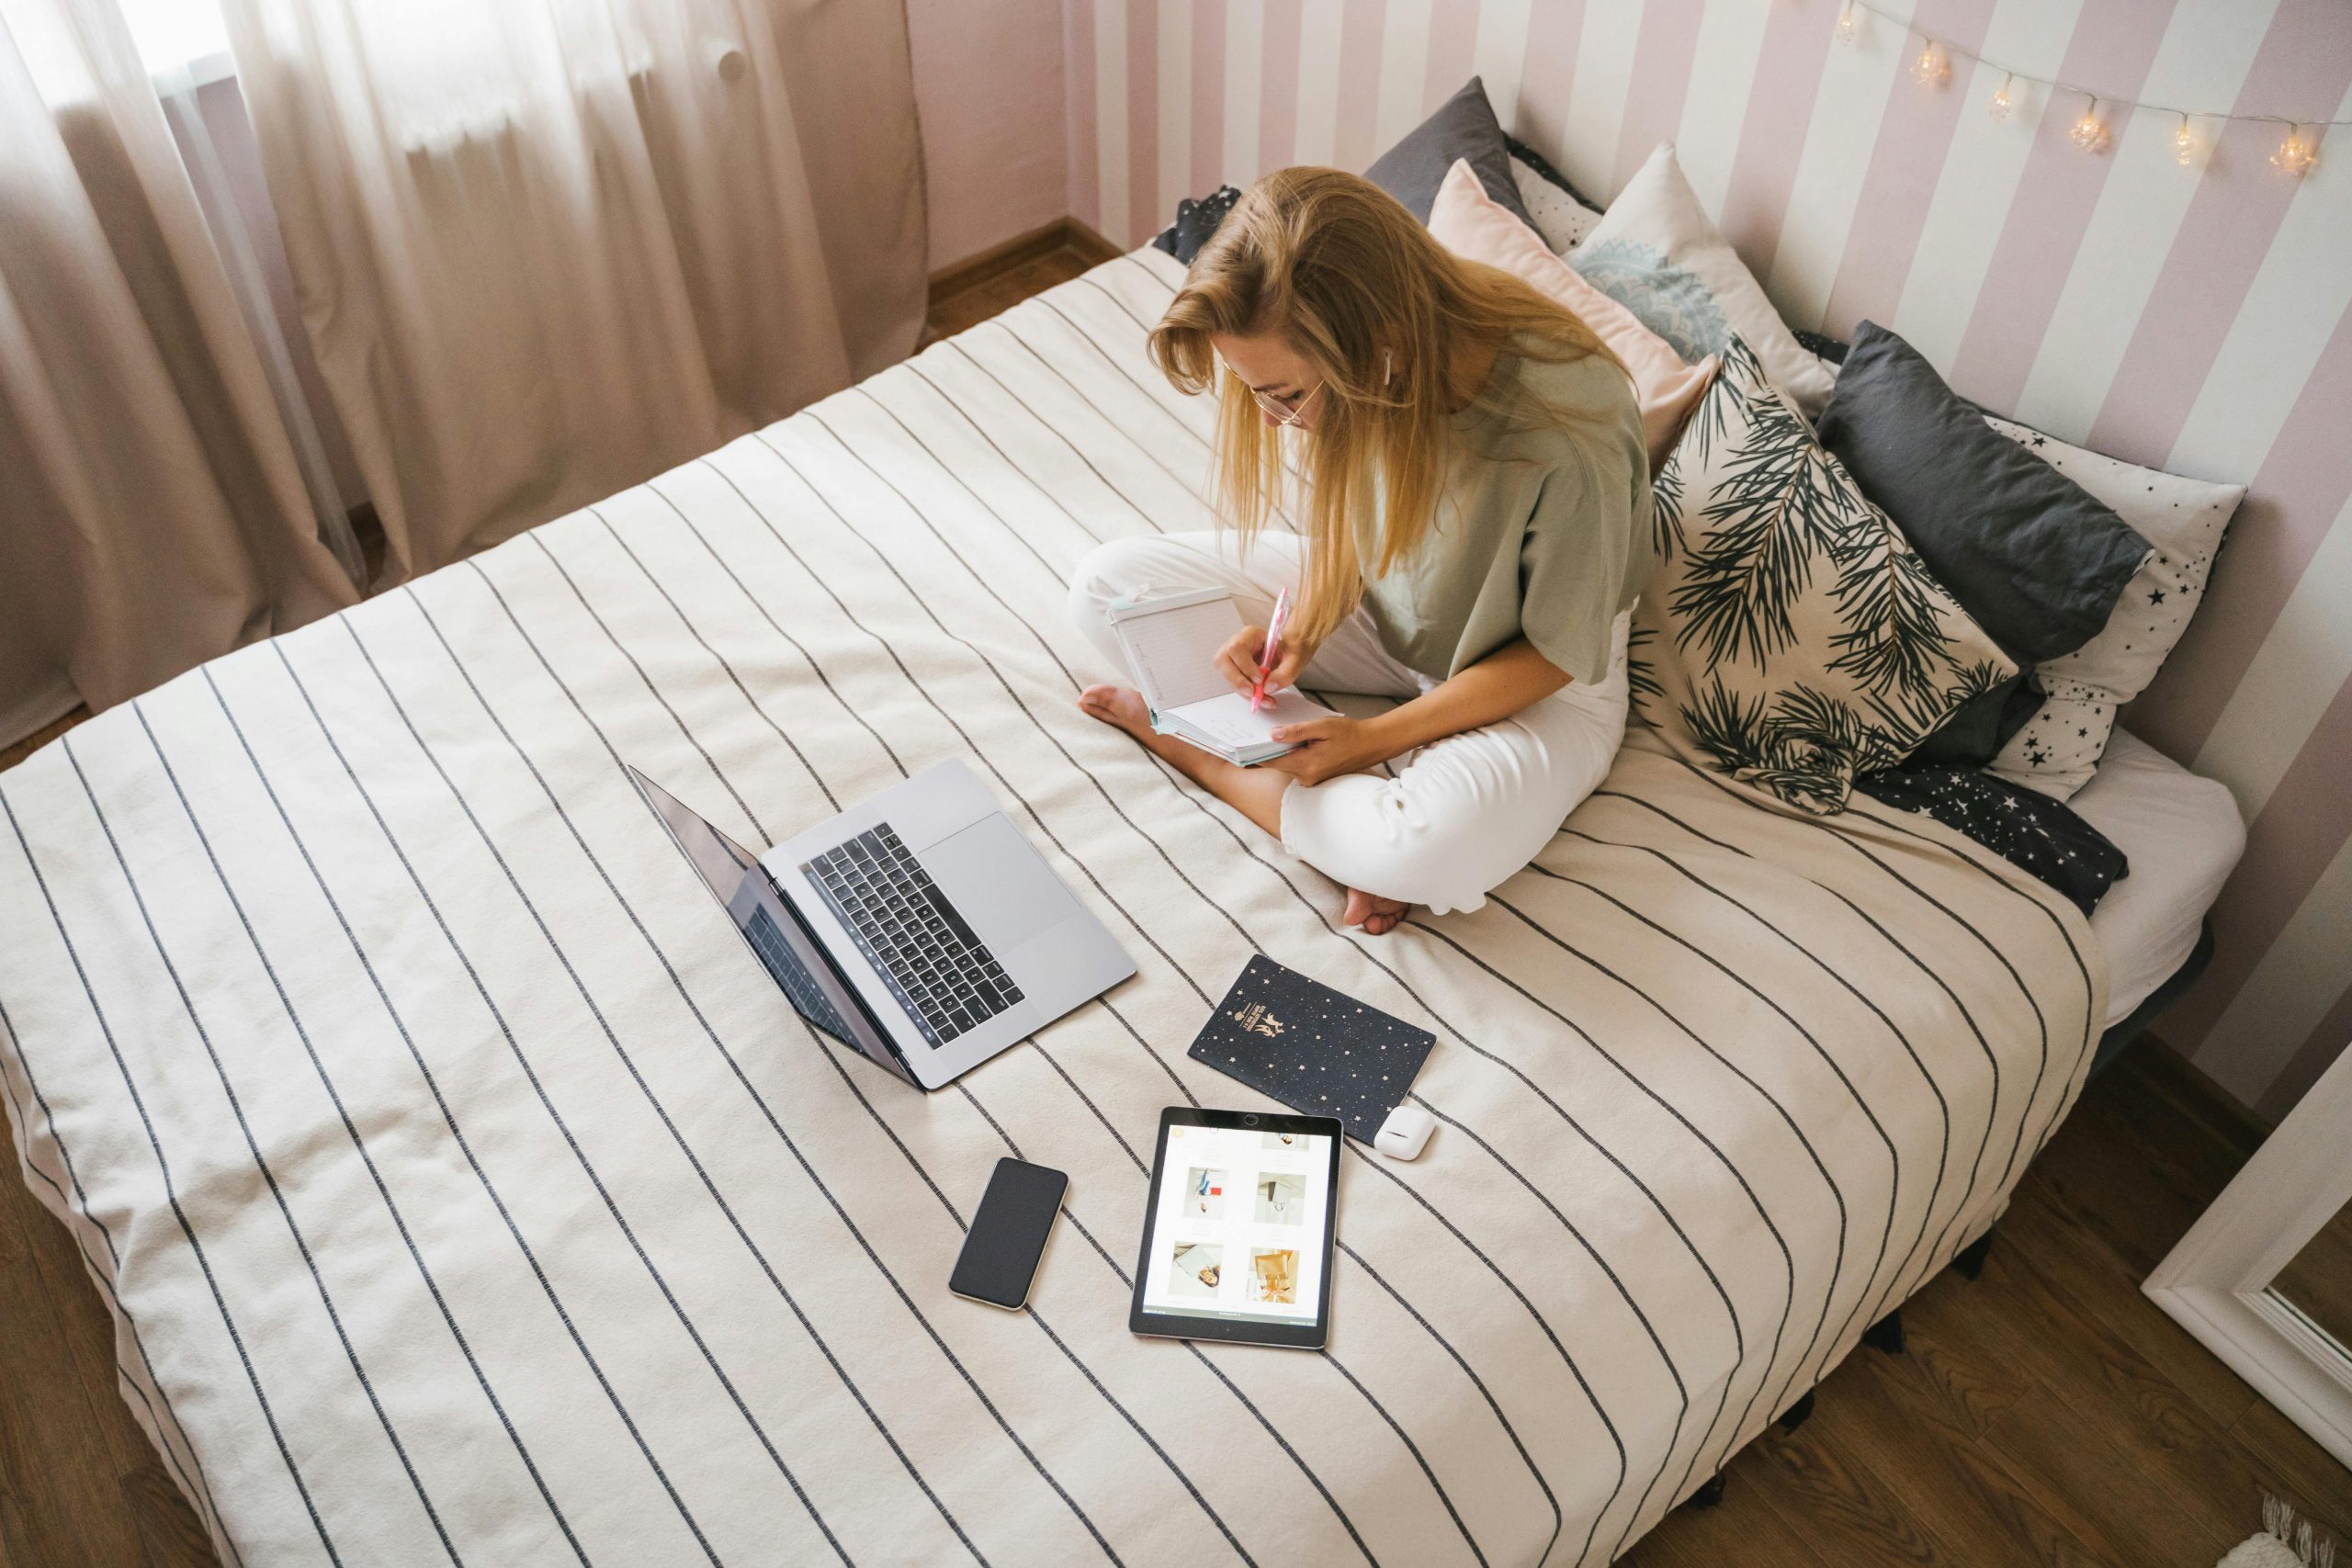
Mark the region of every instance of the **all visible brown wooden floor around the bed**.
<instances>
[{"instance_id":1,"label":"all visible brown wooden floor around the bed","mask_svg":"<svg viewBox=\"0 0 2352 1568\"><path fill-rule=\"evenodd\" d=\"M1077 240L957 268L931 334L1101 259ZM1858 1349L1809 1422L1731 1462L1719 1507L1679 1509L1625 1561L2209 1568L2263 1493L2352 1544L2352 1472L2138 1291L2258 1138L2143 1039L2025 1173L1983 1279L1931 1281L1903 1354ZM214 1563L115 1392L111 1340L64 1227L0 1171L0 1568Z\"/></svg>"}]
</instances>

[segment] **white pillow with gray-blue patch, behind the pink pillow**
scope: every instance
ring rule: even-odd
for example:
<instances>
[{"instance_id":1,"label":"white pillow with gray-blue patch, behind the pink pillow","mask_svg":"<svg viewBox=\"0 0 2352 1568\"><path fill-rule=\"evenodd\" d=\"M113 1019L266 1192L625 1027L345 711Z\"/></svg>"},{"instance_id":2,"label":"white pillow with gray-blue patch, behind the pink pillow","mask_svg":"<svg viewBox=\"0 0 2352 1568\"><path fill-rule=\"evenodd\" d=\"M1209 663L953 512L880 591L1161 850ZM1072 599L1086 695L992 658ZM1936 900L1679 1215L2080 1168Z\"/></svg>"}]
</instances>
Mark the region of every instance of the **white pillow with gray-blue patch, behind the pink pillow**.
<instances>
[{"instance_id":1,"label":"white pillow with gray-blue patch, behind the pink pillow","mask_svg":"<svg viewBox=\"0 0 2352 1568\"><path fill-rule=\"evenodd\" d=\"M1736 334L1806 418L1830 402L1820 360L1797 343L1738 252L1700 209L1672 141L1658 143L1569 261L1595 289L1672 343L1686 364L1722 353Z\"/></svg>"}]
</instances>

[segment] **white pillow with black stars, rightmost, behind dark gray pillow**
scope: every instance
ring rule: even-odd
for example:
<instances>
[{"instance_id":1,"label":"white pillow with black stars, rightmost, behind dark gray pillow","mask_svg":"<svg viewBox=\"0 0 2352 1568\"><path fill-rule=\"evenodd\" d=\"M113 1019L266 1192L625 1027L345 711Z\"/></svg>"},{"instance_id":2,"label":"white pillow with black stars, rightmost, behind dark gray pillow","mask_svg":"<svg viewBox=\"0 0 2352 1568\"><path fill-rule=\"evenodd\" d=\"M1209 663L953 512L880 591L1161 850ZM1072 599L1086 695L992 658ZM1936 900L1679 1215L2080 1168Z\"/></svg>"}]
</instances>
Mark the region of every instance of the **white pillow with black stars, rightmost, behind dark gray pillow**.
<instances>
[{"instance_id":1,"label":"white pillow with black stars, rightmost, behind dark gray pillow","mask_svg":"<svg viewBox=\"0 0 2352 1568\"><path fill-rule=\"evenodd\" d=\"M2046 693L1985 771L2013 785L2067 799L2091 783L2107 752L2114 710L2157 679L2166 654L2187 630L2204 597L2223 529L2246 498L2244 484L2206 484L2180 475L2124 463L2082 447L1985 418L2009 440L2032 449L2051 468L2082 484L2096 501L2138 529L2154 552L2124 583L2107 611L2107 625L2063 658L2034 665L2034 684Z\"/></svg>"}]
</instances>

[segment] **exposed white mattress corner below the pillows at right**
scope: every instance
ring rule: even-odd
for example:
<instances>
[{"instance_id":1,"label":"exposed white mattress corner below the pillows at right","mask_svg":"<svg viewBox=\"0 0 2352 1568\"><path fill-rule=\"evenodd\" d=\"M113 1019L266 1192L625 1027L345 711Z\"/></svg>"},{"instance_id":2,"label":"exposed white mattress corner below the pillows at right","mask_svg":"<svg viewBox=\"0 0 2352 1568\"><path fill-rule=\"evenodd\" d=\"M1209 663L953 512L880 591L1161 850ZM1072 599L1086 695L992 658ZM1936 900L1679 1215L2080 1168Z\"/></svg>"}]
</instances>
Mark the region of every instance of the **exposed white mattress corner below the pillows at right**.
<instances>
[{"instance_id":1,"label":"exposed white mattress corner below the pillows at right","mask_svg":"<svg viewBox=\"0 0 2352 1568\"><path fill-rule=\"evenodd\" d=\"M2107 950L2107 1023L2119 1023L2187 964L2206 910L2246 853L2246 820L2227 785L2129 729L2114 731L2098 773L2067 804L2131 863L2091 914Z\"/></svg>"}]
</instances>

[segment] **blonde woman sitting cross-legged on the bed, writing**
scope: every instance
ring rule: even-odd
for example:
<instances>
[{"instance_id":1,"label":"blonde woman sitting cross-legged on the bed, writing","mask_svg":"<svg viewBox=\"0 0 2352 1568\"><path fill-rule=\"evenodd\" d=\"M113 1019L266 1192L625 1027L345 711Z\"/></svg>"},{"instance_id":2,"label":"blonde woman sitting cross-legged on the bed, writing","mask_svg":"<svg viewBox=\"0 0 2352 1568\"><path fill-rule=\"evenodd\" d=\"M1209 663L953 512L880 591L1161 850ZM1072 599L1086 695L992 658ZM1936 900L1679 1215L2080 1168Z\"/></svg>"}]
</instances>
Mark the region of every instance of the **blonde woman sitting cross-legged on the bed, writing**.
<instances>
[{"instance_id":1,"label":"blonde woman sitting cross-legged on the bed, writing","mask_svg":"<svg viewBox=\"0 0 2352 1568\"><path fill-rule=\"evenodd\" d=\"M1117 597L1225 588L1249 621L1218 654L1268 691L1406 698L1275 731L1244 769L1150 729L1141 693L1089 686L1117 724L1334 882L1378 936L1411 905L1475 910L1592 792L1625 733L1625 628L1651 567L1632 383L1592 331L1517 277L1446 252L1336 169L1261 179L1150 334L1185 393L1218 393L1214 534L1120 538L1077 567L1080 630L1122 665ZM1298 531L1282 515L1298 433Z\"/></svg>"}]
</instances>

